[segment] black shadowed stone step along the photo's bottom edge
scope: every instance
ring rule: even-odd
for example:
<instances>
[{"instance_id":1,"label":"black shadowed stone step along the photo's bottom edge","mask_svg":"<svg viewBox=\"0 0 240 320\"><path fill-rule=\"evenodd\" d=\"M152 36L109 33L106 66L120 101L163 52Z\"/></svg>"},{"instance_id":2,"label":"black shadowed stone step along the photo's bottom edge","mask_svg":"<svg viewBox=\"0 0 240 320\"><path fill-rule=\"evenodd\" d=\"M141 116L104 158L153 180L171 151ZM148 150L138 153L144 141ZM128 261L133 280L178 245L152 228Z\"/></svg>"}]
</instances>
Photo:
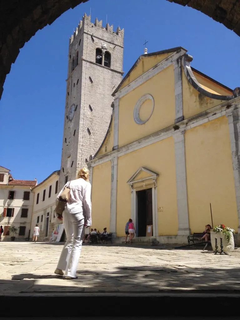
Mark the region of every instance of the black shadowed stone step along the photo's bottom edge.
<instances>
[{"instance_id":1,"label":"black shadowed stone step along the photo's bottom edge","mask_svg":"<svg viewBox=\"0 0 240 320\"><path fill-rule=\"evenodd\" d=\"M239 315L240 292L149 292L149 293L67 293L64 294L30 294L2 295L1 316L19 316L19 309L12 306L23 305L24 317L72 317L92 316L104 319L108 317L151 317L190 316L187 306L196 310L198 317L230 317ZM209 308L208 306L213 306ZM49 308L39 306L54 306ZM157 307L156 307L157 306ZM216 306L216 308L214 307ZM199 318L198 318L199 319Z\"/></svg>"}]
</instances>

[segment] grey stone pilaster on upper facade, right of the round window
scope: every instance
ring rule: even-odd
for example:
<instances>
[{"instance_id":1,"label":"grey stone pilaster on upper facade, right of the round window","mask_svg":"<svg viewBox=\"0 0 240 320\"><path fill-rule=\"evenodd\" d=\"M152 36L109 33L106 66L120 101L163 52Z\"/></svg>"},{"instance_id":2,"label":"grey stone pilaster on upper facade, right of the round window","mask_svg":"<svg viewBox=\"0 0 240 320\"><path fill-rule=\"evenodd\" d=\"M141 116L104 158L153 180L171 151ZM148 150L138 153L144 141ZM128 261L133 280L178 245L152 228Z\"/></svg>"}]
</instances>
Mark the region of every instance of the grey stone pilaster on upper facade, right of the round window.
<instances>
[{"instance_id":1,"label":"grey stone pilaster on upper facade, right of the round window","mask_svg":"<svg viewBox=\"0 0 240 320\"><path fill-rule=\"evenodd\" d=\"M181 58L174 62L175 123L183 120Z\"/></svg>"}]
</instances>

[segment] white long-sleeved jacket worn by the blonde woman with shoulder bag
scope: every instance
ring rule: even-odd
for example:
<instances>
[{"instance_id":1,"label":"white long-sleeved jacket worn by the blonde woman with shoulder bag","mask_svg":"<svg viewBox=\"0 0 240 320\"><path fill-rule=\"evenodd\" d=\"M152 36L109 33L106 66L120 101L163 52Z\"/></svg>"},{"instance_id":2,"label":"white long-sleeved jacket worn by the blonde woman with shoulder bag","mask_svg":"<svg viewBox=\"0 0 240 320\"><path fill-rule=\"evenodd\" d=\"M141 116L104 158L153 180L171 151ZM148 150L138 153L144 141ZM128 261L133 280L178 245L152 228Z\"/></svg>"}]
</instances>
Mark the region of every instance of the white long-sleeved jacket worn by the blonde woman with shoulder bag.
<instances>
[{"instance_id":1,"label":"white long-sleeved jacket worn by the blonde woman with shoulder bag","mask_svg":"<svg viewBox=\"0 0 240 320\"><path fill-rule=\"evenodd\" d=\"M68 181L64 187L70 187L69 200L65 210L69 213L82 213L86 225L92 225L91 184L82 178ZM63 187L63 188L64 188ZM56 198L56 205L63 188Z\"/></svg>"}]
</instances>

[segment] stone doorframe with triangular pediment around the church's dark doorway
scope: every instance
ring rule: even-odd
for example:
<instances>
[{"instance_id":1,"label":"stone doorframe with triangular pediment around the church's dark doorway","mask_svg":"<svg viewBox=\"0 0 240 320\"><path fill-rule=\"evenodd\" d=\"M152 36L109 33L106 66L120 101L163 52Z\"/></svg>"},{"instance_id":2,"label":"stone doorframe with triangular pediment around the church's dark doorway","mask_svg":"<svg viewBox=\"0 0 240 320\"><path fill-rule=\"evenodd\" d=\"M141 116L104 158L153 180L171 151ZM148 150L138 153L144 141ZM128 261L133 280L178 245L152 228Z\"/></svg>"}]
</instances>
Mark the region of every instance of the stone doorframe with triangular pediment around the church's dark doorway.
<instances>
[{"instance_id":1,"label":"stone doorframe with triangular pediment around the church's dark doorway","mask_svg":"<svg viewBox=\"0 0 240 320\"><path fill-rule=\"evenodd\" d=\"M148 177L138 179L140 172L146 172ZM137 191L152 189L152 208L153 208L153 236L158 236L158 216L157 216L157 183L156 179L159 174L140 167L132 177L127 181L131 187L131 219L137 225Z\"/></svg>"}]
</instances>

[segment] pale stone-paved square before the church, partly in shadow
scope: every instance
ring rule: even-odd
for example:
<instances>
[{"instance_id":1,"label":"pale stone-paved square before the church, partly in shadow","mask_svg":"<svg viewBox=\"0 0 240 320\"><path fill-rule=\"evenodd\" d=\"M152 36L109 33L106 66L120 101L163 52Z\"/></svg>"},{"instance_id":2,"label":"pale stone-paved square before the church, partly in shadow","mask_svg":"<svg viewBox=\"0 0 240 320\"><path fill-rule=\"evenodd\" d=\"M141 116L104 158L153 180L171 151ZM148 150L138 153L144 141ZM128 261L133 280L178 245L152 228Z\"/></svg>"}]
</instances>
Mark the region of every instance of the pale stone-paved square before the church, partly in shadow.
<instances>
[{"instance_id":1,"label":"pale stone-paved square before the church, partly in shadow","mask_svg":"<svg viewBox=\"0 0 240 320\"><path fill-rule=\"evenodd\" d=\"M63 244L1 242L0 292L57 294L239 290L240 257L199 249L84 244L78 279L54 275Z\"/></svg>"}]
</instances>

